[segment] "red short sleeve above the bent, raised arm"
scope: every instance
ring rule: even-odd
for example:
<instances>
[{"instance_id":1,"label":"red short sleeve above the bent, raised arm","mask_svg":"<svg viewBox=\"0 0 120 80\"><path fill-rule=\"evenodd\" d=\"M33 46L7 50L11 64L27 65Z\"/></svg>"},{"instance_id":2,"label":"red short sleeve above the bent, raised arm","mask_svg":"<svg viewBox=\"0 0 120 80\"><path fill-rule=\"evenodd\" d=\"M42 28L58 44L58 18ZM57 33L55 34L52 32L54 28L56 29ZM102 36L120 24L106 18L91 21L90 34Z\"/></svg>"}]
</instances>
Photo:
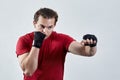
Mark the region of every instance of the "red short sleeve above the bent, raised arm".
<instances>
[{"instance_id":1,"label":"red short sleeve above the bent, raised arm","mask_svg":"<svg viewBox=\"0 0 120 80\"><path fill-rule=\"evenodd\" d=\"M16 45L16 54L17 56L24 54L26 52L30 51L30 46L27 42L27 40L25 40L24 37L20 37L18 39L17 45Z\"/></svg>"}]
</instances>

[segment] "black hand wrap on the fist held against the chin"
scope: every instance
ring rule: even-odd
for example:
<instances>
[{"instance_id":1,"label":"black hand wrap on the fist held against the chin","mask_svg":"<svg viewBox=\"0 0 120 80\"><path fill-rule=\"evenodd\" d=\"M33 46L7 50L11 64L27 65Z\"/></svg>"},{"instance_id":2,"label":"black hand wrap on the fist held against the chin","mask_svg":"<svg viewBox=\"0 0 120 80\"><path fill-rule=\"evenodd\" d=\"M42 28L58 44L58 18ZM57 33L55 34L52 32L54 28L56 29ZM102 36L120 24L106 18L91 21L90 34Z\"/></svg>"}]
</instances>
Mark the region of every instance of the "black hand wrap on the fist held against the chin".
<instances>
[{"instance_id":1,"label":"black hand wrap on the fist held against the chin","mask_svg":"<svg viewBox=\"0 0 120 80\"><path fill-rule=\"evenodd\" d=\"M34 32L33 46L37 47L37 48L40 48L44 38L45 38L45 34L43 34L41 32Z\"/></svg>"}]
</instances>

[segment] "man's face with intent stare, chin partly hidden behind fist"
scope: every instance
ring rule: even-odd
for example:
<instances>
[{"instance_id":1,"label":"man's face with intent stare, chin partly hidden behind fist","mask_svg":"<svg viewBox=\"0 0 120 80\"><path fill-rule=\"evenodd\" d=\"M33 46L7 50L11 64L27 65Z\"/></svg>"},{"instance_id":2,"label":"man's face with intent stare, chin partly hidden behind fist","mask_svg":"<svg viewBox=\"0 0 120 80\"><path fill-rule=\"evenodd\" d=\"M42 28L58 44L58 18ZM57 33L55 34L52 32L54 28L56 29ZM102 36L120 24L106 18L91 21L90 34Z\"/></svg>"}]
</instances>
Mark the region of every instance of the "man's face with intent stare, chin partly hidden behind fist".
<instances>
[{"instance_id":1,"label":"man's face with intent stare, chin partly hidden behind fist","mask_svg":"<svg viewBox=\"0 0 120 80\"><path fill-rule=\"evenodd\" d=\"M36 31L40 31L49 37L55 27L55 18L43 18L39 16L37 22L33 22Z\"/></svg>"}]
</instances>

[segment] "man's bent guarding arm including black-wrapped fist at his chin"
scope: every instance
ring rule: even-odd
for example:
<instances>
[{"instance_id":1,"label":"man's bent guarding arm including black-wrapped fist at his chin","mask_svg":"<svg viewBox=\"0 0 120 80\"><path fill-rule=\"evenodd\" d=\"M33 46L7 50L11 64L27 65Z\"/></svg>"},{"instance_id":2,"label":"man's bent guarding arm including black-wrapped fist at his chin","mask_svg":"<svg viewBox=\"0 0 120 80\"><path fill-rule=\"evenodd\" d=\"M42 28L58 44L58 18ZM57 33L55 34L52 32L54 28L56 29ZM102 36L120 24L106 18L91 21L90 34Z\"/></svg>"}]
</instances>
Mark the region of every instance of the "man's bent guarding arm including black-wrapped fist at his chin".
<instances>
[{"instance_id":1,"label":"man's bent guarding arm including black-wrapped fist at his chin","mask_svg":"<svg viewBox=\"0 0 120 80\"><path fill-rule=\"evenodd\" d=\"M33 46L31 47L30 52L18 56L20 66L25 75L31 76L36 71L38 67L38 56L40 52L40 47L42 46L42 42L44 38L45 38L45 34L39 31L34 32ZM21 43L21 44L28 44L28 43Z\"/></svg>"}]
</instances>

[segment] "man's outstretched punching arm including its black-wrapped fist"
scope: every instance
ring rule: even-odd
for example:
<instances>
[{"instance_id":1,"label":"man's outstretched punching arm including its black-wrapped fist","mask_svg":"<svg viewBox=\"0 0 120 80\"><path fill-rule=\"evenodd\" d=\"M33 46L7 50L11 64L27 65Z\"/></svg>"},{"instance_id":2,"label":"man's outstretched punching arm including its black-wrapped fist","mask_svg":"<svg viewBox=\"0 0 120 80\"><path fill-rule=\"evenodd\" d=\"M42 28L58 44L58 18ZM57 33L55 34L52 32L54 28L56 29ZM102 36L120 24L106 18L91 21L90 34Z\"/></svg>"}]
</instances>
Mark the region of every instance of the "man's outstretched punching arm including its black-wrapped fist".
<instances>
[{"instance_id":1,"label":"man's outstretched punching arm including its black-wrapped fist","mask_svg":"<svg viewBox=\"0 0 120 80\"><path fill-rule=\"evenodd\" d=\"M68 50L73 54L93 56L97 51L96 44L97 38L94 35L87 34L83 36L81 42L73 41Z\"/></svg>"}]
</instances>

